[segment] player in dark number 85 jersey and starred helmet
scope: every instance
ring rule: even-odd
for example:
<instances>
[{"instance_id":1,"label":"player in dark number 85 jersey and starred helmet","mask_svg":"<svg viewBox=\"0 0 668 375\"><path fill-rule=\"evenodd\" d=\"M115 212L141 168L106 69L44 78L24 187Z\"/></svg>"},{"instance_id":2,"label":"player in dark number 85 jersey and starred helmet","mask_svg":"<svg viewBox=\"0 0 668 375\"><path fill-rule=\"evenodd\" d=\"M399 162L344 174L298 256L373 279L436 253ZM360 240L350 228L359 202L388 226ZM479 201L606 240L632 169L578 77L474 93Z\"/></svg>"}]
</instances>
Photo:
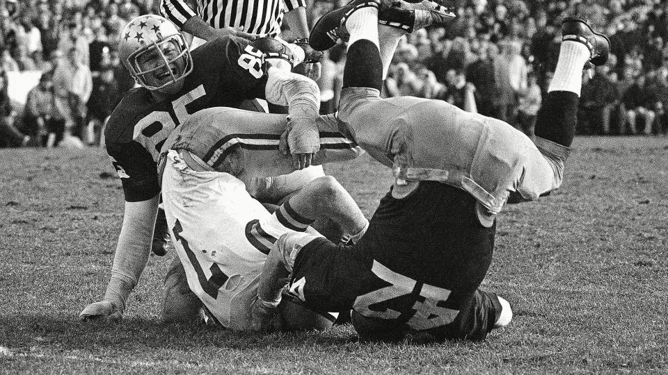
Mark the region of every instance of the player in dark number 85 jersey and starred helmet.
<instances>
[{"instance_id":1,"label":"player in dark number 85 jersey and starred helmet","mask_svg":"<svg viewBox=\"0 0 668 375\"><path fill-rule=\"evenodd\" d=\"M292 131L287 140L295 169L308 167L319 149L315 82L264 65L262 51L245 40L212 40L191 55L171 22L143 15L125 26L119 49L125 67L141 85L113 110L105 131L107 152L122 181L125 213L111 281L104 299L81 312L84 320L122 317L150 255L160 192L156 160L168 135L189 115L214 106L239 107L245 99L267 99L288 106ZM303 51L299 53L294 47L296 58L303 59Z\"/></svg>"}]
</instances>

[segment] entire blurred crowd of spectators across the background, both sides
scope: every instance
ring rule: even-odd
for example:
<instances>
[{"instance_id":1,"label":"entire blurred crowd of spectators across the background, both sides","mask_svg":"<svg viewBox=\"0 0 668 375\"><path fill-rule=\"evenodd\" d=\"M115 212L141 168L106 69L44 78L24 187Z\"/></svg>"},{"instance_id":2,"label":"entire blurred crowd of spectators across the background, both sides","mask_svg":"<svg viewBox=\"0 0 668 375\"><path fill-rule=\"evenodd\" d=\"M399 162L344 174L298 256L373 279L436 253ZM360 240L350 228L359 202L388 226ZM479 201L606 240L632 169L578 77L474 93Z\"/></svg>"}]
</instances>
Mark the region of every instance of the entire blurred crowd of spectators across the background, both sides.
<instances>
[{"instance_id":1,"label":"entire blurred crowd of spectators across the background, both sides","mask_svg":"<svg viewBox=\"0 0 668 375\"><path fill-rule=\"evenodd\" d=\"M308 0L310 22L347 1ZM559 52L560 23L575 15L610 36L612 56L585 79L578 132L668 133L668 1L454 0L447 27L399 43L383 94L442 99L532 135ZM0 147L100 144L106 117L134 86L117 40L159 0L0 0ZM289 40L289 31L284 38ZM319 78L335 111L345 47L327 51ZM40 72L22 105L8 75Z\"/></svg>"}]
</instances>

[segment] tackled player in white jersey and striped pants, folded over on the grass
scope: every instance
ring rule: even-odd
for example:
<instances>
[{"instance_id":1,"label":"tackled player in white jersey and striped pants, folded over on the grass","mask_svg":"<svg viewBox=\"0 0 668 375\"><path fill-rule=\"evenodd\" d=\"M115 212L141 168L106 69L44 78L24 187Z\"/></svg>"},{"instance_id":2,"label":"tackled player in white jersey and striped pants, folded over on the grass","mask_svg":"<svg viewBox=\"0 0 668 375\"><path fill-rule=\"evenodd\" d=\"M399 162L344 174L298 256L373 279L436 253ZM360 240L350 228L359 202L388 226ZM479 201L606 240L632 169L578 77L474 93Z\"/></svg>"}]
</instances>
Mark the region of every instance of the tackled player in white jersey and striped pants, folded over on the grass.
<instances>
[{"instance_id":1,"label":"tackled player in white jersey and striped pants, folded over on the grass","mask_svg":"<svg viewBox=\"0 0 668 375\"><path fill-rule=\"evenodd\" d=\"M280 235L318 234L310 224L327 217L343 230L339 242L356 242L368 224L331 176L307 183L273 213L248 193L253 188L246 184L257 177L292 170L289 156L279 151L286 125L285 115L235 108L200 110L170 135L161 154L165 213L187 283L202 301L206 316L225 328L251 328L262 265ZM315 163L358 156L360 148L339 133L333 115L319 117L317 126L320 147ZM166 301L166 306L170 304ZM292 322L293 317L283 318Z\"/></svg>"}]
</instances>

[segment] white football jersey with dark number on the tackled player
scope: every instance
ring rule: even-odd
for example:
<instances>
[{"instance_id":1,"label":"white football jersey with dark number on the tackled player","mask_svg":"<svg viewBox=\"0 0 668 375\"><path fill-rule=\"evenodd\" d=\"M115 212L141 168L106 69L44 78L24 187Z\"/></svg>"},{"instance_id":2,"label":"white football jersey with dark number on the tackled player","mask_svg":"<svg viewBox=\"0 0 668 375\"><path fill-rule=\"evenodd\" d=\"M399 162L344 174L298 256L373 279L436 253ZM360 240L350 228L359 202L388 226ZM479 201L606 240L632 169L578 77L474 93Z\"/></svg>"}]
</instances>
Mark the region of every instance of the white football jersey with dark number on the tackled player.
<instances>
[{"instance_id":1,"label":"white football jersey with dark number on the tackled player","mask_svg":"<svg viewBox=\"0 0 668 375\"><path fill-rule=\"evenodd\" d=\"M238 178L197 172L168 153L162 192L170 235L190 289L219 324L250 329L250 310L269 249L292 232Z\"/></svg>"}]
</instances>

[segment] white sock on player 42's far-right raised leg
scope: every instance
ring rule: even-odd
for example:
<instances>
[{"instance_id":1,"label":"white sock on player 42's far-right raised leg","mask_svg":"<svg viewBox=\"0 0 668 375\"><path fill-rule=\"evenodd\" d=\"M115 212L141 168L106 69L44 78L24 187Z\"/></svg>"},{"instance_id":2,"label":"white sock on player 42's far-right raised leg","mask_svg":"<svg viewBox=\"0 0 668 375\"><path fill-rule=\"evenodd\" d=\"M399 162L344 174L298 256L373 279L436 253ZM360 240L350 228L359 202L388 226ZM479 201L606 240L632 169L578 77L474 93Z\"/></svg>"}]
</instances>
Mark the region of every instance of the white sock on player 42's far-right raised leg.
<instances>
[{"instance_id":1,"label":"white sock on player 42's far-right raised leg","mask_svg":"<svg viewBox=\"0 0 668 375\"><path fill-rule=\"evenodd\" d=\"M552 77L548 92L570 91L580 96L582 90L582 68L589 61L591 53L587 46L580 42L566 40L559 49L557 69Z\"/></svg>"}]
</instances>

